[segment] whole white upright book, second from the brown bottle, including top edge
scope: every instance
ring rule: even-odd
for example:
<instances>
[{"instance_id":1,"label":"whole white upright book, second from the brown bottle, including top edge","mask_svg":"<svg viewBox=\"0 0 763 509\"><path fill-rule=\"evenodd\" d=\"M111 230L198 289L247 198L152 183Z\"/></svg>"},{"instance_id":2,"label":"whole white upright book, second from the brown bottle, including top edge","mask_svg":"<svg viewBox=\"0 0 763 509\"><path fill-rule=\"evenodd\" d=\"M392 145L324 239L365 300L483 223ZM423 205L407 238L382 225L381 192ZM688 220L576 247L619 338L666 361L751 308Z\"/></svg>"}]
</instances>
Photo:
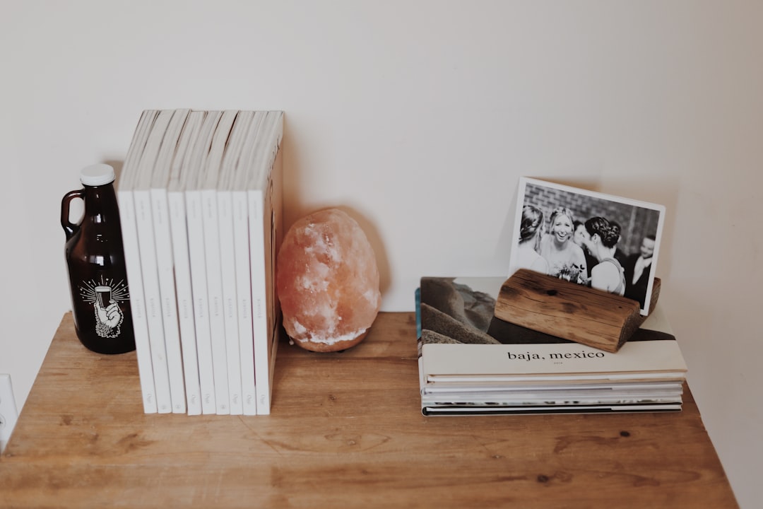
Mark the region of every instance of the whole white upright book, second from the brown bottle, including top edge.
<instances>
[{"instance_id":1,"label":"whole white upright book, second from the brown bottle, including top edge","mask_svg":"<svg viewBox=\"0 0 763 509\"><path fill-rule=\"evenodd\" d=\"M143 149L143 155L140 157L140 168L133 189L140 267L143 273L143 293L146 298L146 319L148 321L153 376L156 385L156 403L159 414L172 412L172 388L167 366L161 294L159 292L159 268L156 263L156 246L153 237L150 177L171 118L172 110L159 111L146 141L146 147Z\"/></svg>"}]
</instances>

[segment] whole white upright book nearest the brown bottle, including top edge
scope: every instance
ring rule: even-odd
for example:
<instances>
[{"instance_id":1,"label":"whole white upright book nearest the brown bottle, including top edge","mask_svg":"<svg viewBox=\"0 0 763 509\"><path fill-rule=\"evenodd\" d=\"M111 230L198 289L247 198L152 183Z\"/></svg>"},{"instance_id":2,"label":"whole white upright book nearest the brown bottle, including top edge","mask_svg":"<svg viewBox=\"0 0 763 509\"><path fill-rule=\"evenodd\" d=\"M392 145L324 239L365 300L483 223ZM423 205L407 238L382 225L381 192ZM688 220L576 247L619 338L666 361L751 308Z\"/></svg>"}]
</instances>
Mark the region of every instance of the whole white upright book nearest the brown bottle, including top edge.
<instances>
[{"instance_id":1,"label":"whole white upright book nearest the brown bottle, including top edge","mask_svg":"<svg viewBox=\"0 0 763 509\"><path fill-rule=\"evenodd\" d=\"M140 115L127 157L122 167L117 200L122 228L122 244L124 246L124 261L127 269L127 282L130 285L130 313L133 317L135 334L135 350L137 356L140 390L143 395L143 412L156 414L156 388L153 382L153 366L151 366L151 346L149 343L148 322L146 321L146 302L143 298L143 275L140 268L140 251L138 249L137 227L135 222L135 205L132 188L137 176L137 166L143 147L146 145L150 128L158 111L146 110Z\"/></svg>"}]
</instances>

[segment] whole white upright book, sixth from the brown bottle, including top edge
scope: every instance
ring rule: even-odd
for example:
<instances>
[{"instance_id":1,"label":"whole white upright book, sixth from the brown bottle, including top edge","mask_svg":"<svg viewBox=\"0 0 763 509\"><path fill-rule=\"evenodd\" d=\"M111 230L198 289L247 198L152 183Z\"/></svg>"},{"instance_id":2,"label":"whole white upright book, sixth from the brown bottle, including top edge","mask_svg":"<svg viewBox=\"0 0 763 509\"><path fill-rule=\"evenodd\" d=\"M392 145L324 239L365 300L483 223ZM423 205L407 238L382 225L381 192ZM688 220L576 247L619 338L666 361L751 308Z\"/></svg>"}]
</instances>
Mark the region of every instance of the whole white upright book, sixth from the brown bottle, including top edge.
<instances>
[{"instance_id":1,"label":"whole white upright book, sixth from the brown bottle, including top edge","mask_svg":"<svg viewBox=\"0 0 763 509\"><path fill-rule=\"evenodd\" d=\"M207 299L214 366L214 392L217 414L230 414L227 375L227 346L223 307L223 281L220 261L220 228L217 221L217 178L225 146L237 111L226 110L214 131L204 175L201 176L201 221L204 225L204 259L207 267Z\"/></svg>"}]
</instances>

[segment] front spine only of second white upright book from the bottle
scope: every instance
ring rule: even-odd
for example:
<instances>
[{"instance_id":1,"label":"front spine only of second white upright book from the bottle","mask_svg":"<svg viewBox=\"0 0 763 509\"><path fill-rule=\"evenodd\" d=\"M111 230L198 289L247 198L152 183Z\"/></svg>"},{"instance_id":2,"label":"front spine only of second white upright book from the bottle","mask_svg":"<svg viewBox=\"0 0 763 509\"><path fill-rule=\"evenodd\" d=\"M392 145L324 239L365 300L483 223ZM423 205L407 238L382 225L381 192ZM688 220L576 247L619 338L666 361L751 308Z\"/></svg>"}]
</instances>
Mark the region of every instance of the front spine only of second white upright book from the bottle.
<instances>
[{"instance_id":1,"label":"front spine only of second white upright book from the bottle","mask_svg":"<svg viewBox=\"0 0 763 509\"><path fill-rule=\"evenodd\" d=\"M169 389L169 371L164 344L161 297L159 294L159 275L156 266L156 248L153 241L151 196L147 189L134 190L133 198L140 251L140 267L143 274L143 295L146 299L146 321L151 345L153 379L156 388L156 404L159 414L169 414L172 412L172 396Z\"/></svg>"}]
</instances>

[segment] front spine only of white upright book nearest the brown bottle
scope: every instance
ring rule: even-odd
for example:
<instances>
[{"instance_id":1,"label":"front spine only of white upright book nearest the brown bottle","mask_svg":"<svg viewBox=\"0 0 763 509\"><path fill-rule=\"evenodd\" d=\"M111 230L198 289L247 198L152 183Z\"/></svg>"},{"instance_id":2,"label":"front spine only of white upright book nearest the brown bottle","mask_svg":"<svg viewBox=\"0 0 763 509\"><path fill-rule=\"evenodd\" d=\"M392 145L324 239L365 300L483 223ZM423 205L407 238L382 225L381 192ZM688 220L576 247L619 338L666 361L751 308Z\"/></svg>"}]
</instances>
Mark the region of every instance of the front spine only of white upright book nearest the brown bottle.
<instances>
[{"instance_id":1,"label":"front spine only of white upright book nearest the brown bottle","mask_svg":"<svg viewBox=\"0 0 763 509\"><path fill-rule=\"evenodd\" d=\"M140 391L143 395L143 412L156 414L156 390L151 366L151 346L149 343L148 323L146 321L146 302L143 300L143 275L140 269L140 251L138 250L137 229L135 226L135 206L132 192L118 191L119 215L122 227L124 262L127 269L127 284L130 288L130 313L133 317L135 350L140 377Z\"/></svg>"}]
</instances>

